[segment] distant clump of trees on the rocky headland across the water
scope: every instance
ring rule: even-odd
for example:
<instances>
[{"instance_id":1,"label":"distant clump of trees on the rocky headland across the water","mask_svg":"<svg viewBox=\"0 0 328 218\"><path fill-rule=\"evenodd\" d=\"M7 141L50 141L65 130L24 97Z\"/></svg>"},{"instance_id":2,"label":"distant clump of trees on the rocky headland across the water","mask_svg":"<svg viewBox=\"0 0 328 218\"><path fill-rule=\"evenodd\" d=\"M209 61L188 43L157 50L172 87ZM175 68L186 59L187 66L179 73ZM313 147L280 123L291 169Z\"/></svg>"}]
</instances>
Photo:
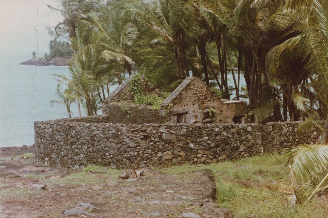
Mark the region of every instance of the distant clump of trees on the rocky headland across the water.
<instances>
[{"instance_id":1,"label":"distant clump of trees on the rocky headland across the water","mask_svg":"<svg viewBox=\"0 0 328 218\"><path fill-rule=\"evenodd\" d=\"M69 42L57 41L56 39L49 42L50 53L46 53L44 57L46 60L51 58L70 58L72 55L71 44Z\"/></svg>"}]
</instances>

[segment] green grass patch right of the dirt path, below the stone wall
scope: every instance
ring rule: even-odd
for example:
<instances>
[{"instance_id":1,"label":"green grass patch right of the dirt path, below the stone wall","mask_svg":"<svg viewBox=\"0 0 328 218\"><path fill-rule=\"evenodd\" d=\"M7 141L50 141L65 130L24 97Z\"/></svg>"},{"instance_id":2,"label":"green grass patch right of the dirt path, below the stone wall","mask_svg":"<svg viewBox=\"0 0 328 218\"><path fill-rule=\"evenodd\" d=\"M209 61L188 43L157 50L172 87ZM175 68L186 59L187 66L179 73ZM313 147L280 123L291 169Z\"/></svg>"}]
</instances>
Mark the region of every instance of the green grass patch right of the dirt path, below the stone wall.
<instances>
[{"instance_id":1,"label":"green grass patch right of the dirt path, below the stone wall","mask_svg":"<svg viewBox=\"0 0 328 218\"><path fill-rule=\"evenodd\" d=\"M290 206L291 194L278 191L291 188L287 159L283 155L263 155L237 162L210 165L181 165L161 170L185 173L212 169L217 187L217 204L241 217L326 217L328 204L315 199L305 205Z\"/></svg>"}]
</instances>

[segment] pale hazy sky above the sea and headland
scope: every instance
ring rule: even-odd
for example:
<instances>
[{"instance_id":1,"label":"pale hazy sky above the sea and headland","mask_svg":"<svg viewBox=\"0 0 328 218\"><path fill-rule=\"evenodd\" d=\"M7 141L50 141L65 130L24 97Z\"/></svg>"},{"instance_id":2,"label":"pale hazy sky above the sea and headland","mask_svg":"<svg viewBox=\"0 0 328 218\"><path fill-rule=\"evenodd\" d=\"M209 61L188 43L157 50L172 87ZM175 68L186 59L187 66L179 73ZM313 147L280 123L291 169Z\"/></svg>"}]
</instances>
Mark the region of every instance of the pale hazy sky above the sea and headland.
<instances>
[{"instance_id":1,"label":"pale hazy sky above the sea and headland","mask_svg":"<svg viewBox=\"0 0 328 218\"><path fill-rule=\"evenodd\" d=\"M49 53L45 27L55 26L63 20L58 0L0 0L0 53L31 53L38 56Z\"/></svg>"}]
</instances>

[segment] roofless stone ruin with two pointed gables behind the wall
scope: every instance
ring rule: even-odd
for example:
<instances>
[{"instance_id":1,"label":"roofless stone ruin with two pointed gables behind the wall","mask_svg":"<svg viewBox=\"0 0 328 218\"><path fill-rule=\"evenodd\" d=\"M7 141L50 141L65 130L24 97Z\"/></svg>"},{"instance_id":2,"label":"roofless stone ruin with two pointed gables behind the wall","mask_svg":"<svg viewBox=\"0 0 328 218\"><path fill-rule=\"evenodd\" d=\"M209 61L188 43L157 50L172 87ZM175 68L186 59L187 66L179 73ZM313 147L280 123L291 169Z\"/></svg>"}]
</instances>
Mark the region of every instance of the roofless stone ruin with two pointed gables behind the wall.
<instances>
[{"instance_id":1,"label":"roofless stone ruin with two pointed gables behind the wall","mask_svg":"<svg viewBox=\"0 0 328 218\"><path fill-rule=\"evenodd\" d=\"M220 99L197 77L187 77L167 97L161 109L147 105L136 105L130 91L129 76L105 100L103 114L109 115L113 123L244 123L247 118L246 101ZM145 95L161 95L150 82L141 78Z\"/></svg>"}]
</instances>

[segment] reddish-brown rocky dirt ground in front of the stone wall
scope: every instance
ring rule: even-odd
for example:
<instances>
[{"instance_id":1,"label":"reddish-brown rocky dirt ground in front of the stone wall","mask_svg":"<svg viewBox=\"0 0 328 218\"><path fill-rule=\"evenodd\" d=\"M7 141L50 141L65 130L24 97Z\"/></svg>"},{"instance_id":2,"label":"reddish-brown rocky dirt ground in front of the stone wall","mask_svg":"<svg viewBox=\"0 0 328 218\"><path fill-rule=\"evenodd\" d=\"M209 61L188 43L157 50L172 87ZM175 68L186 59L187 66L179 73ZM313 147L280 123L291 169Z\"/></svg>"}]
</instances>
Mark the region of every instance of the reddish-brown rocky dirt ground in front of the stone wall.
<instances>
[{"instance_id":1,"label":"reddish-brown rocky dirt ground in front of the stone wall","mask_svg":"<svg viewBox=\"0 0 328 218\"><path fill-rule=\"evenodd\" d=\"M36 166L33 152L26 146L0 148L0 218L225 217L201 195L197 171L146 168L141 177L122 179L121 170L105 167Z\"/></svg>"}]
</instances>

